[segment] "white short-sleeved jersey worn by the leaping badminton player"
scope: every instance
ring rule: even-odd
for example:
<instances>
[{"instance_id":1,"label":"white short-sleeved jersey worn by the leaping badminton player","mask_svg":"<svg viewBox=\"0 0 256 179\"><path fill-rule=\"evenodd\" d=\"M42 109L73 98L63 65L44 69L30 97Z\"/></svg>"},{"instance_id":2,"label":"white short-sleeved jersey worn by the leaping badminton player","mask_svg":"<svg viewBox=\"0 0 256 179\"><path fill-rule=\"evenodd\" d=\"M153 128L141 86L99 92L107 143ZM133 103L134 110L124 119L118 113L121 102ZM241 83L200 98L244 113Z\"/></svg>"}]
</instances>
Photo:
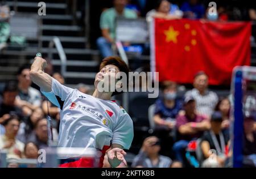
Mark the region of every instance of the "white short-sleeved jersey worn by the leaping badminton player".
<instances>
[{"instance_id":1,"label":"white short-sleeved jersey worn by the leaping badminton player","mask_svg":"<svg viewBox=\"0 0 256 179\"><path fill-rule=\"evenodd\" d=\"M42 90L41 90L42 91ZM110 100L101 100L52 79L52 91L42 93L60 110L59 147L97 148L120 144L129 149L133 121Z\"/></svg>"}]
</instances>

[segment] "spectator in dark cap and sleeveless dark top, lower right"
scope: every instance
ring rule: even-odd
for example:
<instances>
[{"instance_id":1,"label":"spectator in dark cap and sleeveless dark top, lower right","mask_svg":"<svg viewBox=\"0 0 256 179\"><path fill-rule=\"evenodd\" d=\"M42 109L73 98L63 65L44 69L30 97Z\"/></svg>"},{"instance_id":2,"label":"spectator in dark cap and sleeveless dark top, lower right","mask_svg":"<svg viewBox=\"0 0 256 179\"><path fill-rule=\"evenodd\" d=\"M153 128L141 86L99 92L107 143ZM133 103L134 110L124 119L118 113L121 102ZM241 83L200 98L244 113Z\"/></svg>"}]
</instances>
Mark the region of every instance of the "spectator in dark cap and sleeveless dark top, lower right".
<instances>
[{"instance_id":1,"label":"spectator in dark cap and sleeveless dark top, lower right","mask_svg":"<svg viewBox=\"0 0 256 179\"><path fill-rule=\"evenodd\" d=\"M224 167L228 159L229 135L222 133L221 124L222 114L220 112L213 113L210 119L210 130L205 131L201 138L201 149L205 158L203 167Z\"/></svg>"}]
</instances>

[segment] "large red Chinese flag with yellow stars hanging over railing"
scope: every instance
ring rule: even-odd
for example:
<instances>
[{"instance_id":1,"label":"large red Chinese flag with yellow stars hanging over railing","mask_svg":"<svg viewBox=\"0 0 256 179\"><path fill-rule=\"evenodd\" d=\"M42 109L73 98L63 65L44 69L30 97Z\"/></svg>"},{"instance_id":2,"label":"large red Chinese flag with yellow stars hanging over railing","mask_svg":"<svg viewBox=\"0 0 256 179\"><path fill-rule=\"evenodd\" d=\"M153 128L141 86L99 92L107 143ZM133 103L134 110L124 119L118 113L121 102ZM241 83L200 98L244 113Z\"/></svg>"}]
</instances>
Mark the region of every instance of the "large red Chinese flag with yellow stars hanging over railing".
<instances>
[{"instance_id":1,"label":"large red Chinese flag with yellow stars hanging over railing","mask_svg":"<svg viewBox=\"0 0 256 179\"><path fill-rule=\"evenodd\" d=\"M155 19L151 67L159 81L192 83L205 71L209 84L230 84L235 66L250 65L250 22Z\"/></svg>"}]
</instances>

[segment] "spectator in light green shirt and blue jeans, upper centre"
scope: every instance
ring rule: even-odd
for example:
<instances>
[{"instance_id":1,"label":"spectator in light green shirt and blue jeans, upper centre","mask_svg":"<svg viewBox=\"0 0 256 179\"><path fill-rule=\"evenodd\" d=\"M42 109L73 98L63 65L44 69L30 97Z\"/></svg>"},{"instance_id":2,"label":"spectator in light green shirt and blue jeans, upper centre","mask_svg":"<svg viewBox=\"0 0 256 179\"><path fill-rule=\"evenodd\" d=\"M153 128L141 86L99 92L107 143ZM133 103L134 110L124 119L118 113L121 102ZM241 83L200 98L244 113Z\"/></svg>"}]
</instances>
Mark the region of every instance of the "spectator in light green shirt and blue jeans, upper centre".
<instances>
[{"instance_id":1,"label":"spectator in light green shirt and blue jeans, upper centre","mask_svg":"<svg viewBox=\"0 0 256 179\"><path fill-rule=\"evenodd\" d=\"M113 56L112 44L115 39L115 18L137 18L137 14L133 10L125 8L127 0L114 0L114 7L105 10L101 14L100 28L102 37L97 39L98 48L102 57Z\"/></svg>"}]
</instances>

